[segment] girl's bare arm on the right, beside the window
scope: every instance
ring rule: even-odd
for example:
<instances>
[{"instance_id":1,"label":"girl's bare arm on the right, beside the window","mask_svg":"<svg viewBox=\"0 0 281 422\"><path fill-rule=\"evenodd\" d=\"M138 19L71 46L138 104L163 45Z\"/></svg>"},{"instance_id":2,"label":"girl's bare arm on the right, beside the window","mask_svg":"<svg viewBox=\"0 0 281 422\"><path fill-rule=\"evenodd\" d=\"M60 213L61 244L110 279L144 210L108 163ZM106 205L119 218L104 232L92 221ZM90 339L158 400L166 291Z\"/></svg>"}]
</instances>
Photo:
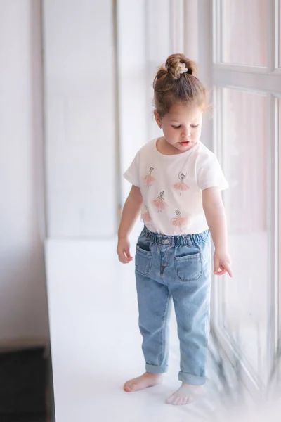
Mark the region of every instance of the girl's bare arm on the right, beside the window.
<instances>
[{"instance_id":1,"label":"girl's bare arm on the right, beside the window","mask_svg":"<svg viewBox=\"0 0 281 422\"><path fill-rule=\"evenodd\" d=\"M222 276L228 272L232 277L231 259L228 254L226 212L221 198L221 190L219 188L204 189L202 198L204 213L215 246L214 274Z\"/></svg>"}]
</instances>

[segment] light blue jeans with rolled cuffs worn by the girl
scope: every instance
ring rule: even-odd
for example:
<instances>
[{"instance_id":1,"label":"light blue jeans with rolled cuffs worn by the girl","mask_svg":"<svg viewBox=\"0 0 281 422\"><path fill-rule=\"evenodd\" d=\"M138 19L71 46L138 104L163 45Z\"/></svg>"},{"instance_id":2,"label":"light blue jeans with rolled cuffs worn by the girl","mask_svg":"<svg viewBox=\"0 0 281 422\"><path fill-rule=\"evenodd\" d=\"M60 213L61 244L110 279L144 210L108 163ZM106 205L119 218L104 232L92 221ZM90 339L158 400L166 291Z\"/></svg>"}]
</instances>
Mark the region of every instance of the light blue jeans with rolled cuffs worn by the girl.
<instances>
[{"instance_id":1,"label":"light blue jeans with rolled cuffs worn by the girl","mask_svg":"<svg viewBox=\"0 0 281 422\"><path fill-rule=\"evenodd\" d=\"M173 298L181 352L178 379L204 384L211 291L209 230L166 236L145 227L136 246L136 286L146 371L167 371Z\"/></svg>"}]
</instances>

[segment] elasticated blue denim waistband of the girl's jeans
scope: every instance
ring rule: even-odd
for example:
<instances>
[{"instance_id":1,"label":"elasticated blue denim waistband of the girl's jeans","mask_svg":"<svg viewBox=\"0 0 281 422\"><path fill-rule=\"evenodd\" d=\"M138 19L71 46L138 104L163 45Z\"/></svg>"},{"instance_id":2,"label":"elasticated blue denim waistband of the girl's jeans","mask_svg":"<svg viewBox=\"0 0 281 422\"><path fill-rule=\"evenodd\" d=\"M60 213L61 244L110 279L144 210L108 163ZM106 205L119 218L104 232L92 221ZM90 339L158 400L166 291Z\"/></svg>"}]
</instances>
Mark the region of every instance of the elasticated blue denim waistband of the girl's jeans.
<instances>
[{"instance_id":1,"label":"elasticated blue denim waistband of the girl's jeans","mask_svg":"<svg viewBox=\"0 0 281 422\"><path fill-rule=\"evenodd\" d=\"M144 227L143 229L144 234L147 238L150 239L153 243L157 243L158 245L166 245L166 246L192 246L200 241L204 241L207 236L209 236L209 230L205 230L202 233L195 233L195 234L183 234L179 236L168 236L166 234L158 234L154 233Z\"/></svg>"}]
</instances>

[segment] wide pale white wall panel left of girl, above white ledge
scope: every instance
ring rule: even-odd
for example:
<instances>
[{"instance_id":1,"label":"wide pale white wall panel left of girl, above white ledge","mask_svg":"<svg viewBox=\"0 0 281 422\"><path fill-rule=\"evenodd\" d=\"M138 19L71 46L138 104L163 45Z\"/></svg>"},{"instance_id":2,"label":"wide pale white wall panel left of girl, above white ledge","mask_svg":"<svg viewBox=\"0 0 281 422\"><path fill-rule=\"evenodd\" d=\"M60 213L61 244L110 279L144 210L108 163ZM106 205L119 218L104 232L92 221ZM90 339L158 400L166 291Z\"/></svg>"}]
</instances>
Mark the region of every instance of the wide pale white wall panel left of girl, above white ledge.
<instances>
[{"instance_id":1,"label":"wide pale white wall panel left of girl, above white ledge","mask_svg":"<svg viewBox=\"0 0 281 422\"><path fill-rule=\"evenodd\" d=\"M116 233L111 0L44 1L49 238Z\"/></svg>"}]
</instances>

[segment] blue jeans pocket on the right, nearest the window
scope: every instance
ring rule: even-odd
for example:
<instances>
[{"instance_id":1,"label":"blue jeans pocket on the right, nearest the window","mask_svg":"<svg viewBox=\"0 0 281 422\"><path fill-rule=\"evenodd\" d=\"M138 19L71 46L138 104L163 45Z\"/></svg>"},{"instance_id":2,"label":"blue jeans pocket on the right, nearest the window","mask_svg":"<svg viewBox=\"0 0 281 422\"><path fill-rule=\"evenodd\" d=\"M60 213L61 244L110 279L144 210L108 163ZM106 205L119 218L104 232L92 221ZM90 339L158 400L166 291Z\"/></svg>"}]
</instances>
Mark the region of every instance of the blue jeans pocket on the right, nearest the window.
<instances>
[{"instance_id":1,"label":"blue jeans pocket on the right, nearest the window","mask_svg":"<svg viewBox=\"0 0 281 422\"><path fill-rule=\"evenodd\" d=\"M202 276L201 253L175 257L176 276L181 281L197 281Z\"/></svg>"}]
</instances>

